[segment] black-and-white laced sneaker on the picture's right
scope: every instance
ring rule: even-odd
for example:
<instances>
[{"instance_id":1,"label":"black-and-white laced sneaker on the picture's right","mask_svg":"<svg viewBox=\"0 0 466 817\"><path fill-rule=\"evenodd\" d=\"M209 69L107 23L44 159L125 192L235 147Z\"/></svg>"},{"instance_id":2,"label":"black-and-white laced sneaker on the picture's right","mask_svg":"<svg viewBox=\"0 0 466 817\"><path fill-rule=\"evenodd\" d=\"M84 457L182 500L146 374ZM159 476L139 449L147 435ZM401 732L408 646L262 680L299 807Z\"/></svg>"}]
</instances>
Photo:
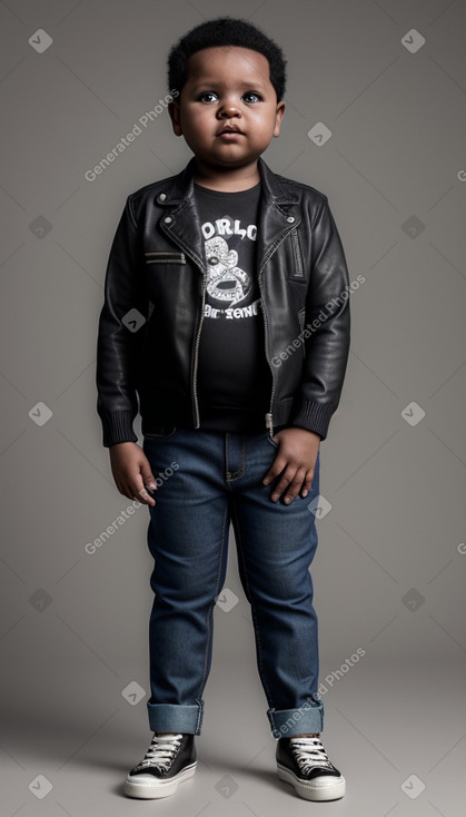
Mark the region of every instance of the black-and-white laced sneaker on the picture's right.
<instances>
[{"instance_id":1,"label":"black-and-white laced sneaker on the picture's right","mask_svg":"<svg viewBox=\"0 0 466 817\"><path fill-rule=\"evenodd\" d=\"M345 795L345 778L320 738L279 738L277 769L280 780L290 782L305 800L338 800Z\"/></svg>"}]
</instances>

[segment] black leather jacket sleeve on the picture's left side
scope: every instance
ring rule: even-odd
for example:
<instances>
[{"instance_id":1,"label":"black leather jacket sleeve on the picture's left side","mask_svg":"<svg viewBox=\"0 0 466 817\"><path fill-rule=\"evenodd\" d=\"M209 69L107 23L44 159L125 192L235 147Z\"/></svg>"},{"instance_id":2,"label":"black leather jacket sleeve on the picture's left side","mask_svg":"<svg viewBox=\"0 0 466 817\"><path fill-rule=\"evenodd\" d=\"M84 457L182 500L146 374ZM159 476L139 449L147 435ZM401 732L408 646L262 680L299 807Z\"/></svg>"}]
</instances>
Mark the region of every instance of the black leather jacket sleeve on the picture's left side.
<instances>
[{"instance_id":1,"label":"black leather jacket sleeve on the picture's left side","mask_svg":"<svg viewBox=\"0 0 466 817\"><path fill-rule=\"evenodd\" d=\"M97 411L103 445L137 442L136 364L145 312L141 248L130 198L121 215L107 265L97 341Z\"/></svg>"}]
</instances>

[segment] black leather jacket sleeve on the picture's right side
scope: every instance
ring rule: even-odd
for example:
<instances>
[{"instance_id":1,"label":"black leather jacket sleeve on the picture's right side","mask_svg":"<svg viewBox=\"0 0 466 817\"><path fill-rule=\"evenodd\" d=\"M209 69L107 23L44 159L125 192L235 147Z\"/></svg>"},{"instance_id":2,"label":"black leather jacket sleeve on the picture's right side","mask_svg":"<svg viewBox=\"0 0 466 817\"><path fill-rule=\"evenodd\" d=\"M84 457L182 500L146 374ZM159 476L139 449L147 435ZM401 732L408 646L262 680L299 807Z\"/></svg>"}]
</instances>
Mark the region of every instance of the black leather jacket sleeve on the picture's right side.
<instances>
[{"instance_id":1,"label":"black leather jacket sleeve on the picture's right side","mask_svg":"<svg viewBox=\"0 0 466 817\"><path fill-rule=\"evenodd\" d=\"M350 342L348 269L326 198L311 227L310 240L305 360L291 423L325 440L340 400Z\"/></svg>"}]
</instances>

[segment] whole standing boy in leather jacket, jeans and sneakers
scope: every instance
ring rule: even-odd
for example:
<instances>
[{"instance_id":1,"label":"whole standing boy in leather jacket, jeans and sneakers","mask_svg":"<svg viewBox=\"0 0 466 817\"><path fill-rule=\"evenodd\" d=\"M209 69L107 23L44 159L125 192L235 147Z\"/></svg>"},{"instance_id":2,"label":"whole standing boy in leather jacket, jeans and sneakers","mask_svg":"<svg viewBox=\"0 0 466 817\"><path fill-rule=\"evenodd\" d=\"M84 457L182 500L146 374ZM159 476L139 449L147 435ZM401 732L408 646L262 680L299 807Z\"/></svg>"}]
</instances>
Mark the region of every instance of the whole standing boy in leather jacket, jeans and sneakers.
<instances>
[{"instance_id":1,"label":"whole standing boy in leather jacket, jeans and sneakers","mask_svg":"<svg viewBox=\"0 0 466 817\"><path fill-rule=\"evenodd\" d=\"M169 86L194 157L129 196L98 339L103 445L120 493L149 505L155 559L153 737L125 791L166 797L195 774L231 521L278 775L308 800L337 799L308 568L319 444L348 356L344 250L327 198L260 158L285 112L269 38L242 20L202 23L171 49Z\"/></svg>"}]
</instances>

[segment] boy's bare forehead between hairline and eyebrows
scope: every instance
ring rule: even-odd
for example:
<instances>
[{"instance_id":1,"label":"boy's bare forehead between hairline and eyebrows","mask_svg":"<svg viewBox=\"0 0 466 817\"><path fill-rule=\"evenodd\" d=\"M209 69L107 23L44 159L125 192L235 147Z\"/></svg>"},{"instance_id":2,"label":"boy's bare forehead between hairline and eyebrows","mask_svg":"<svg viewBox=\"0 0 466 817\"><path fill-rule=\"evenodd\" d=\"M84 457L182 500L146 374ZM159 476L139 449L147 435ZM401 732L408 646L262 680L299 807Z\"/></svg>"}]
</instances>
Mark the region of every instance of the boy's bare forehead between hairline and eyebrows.
<instances>
[{"instance_id":1,"label":"boy's bare forehead between hairline and eyebrows","mask_svg":"<svg viewBox=\"0 0 466 817\"><path fill-rule=\"evenodd\" d=\"M240 46L215 46L197 51L188 59L188 79L191 83L218 82L228 79L235 82L270 83L270 66L267 57Z\"/></svg>"}]
</instances>

